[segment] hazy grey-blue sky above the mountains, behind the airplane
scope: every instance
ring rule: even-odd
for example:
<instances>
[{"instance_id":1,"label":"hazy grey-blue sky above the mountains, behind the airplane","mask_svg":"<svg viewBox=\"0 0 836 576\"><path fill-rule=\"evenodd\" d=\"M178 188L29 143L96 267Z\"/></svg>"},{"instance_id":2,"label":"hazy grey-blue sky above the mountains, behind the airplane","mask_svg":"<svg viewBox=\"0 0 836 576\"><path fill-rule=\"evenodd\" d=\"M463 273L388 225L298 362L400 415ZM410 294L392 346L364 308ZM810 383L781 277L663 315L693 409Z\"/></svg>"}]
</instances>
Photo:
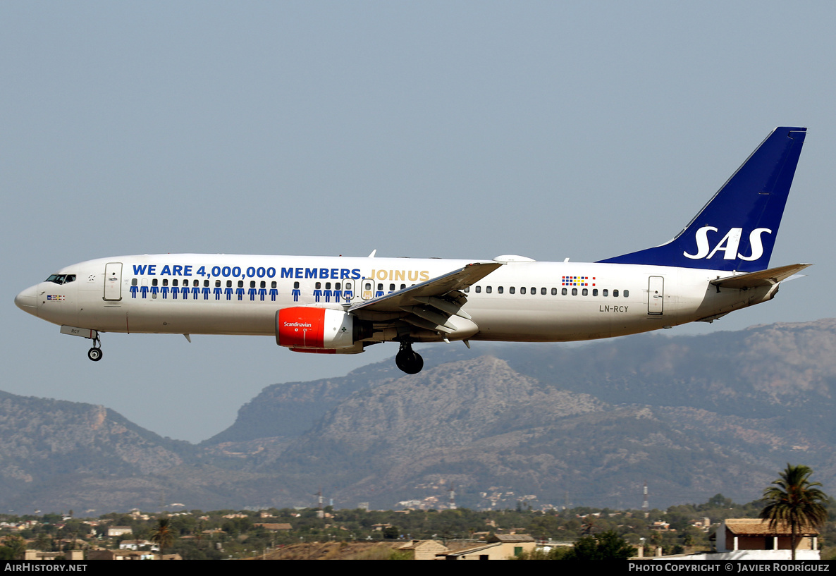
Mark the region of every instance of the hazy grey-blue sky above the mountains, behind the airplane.
<instances>
[{"instance_id":1,"label":"hazy grey-blue sky above the mountains, behind the airplane","mask_svg":"<svg viewBox=\"0 0 836 576\"><path fill-rule=\"evenodd\" d=\"M831 317L834 17L769 1L0 3L0 390L205 440L265 386L397 347L104 334L93 363L15 294L137 253L599 260L673 237L777 125L808 136L772 265L815 265L772 302L665 334Z\"/></svg>"}]
</instances>

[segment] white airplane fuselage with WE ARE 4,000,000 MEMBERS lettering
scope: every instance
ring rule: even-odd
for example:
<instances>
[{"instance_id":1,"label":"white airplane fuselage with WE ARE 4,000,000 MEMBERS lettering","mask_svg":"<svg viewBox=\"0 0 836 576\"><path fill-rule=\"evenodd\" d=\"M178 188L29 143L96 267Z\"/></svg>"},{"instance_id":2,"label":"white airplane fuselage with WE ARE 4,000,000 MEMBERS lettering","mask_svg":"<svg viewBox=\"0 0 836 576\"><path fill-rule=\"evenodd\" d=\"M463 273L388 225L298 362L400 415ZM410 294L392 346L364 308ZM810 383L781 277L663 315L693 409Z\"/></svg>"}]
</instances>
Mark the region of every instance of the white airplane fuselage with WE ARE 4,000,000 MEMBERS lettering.
<instances>
[{"instance_id":1,"label":"white airplane fuselage with WE ARE 4,000,000 MEMBERS lettering","mask_svg":"<svg viewBox=\"0 0 836 576\"><path fill-rule=\"evenodd\" d=\"M227 254L101 258L63 268L58 274L74 275L73 281L38 283L16 302L48 322L99 332L267 336L276 334L280 308L343 310L471 262ZM478 326L467 339L569 341L711 319L772 298L777 288L719 290L709 281L721 276L728 273L507 262L466 290L461 309ZM389 339L375 334L365 340Z\"/></svg>"}]
</instances>

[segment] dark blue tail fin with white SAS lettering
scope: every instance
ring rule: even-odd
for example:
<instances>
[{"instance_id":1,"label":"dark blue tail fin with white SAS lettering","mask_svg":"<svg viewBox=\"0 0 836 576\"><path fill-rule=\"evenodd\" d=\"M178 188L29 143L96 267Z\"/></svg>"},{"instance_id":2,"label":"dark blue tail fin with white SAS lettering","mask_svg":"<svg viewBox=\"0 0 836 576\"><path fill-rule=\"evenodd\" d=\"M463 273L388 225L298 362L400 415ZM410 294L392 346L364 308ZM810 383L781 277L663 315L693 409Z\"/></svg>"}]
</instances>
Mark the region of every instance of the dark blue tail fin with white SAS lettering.
<instances>
[{"instance_id":1,"label":"dark blue tail fin with white SAS lettering","mask_svg":"<svg viewBox=\"0 0 836 576\"><path fill-rule=\"evenodd\" d=\"M769 268L806 134L806 128L772 130L673 240L600 262L729 272Z\"/></svg>"}]
</instances>

